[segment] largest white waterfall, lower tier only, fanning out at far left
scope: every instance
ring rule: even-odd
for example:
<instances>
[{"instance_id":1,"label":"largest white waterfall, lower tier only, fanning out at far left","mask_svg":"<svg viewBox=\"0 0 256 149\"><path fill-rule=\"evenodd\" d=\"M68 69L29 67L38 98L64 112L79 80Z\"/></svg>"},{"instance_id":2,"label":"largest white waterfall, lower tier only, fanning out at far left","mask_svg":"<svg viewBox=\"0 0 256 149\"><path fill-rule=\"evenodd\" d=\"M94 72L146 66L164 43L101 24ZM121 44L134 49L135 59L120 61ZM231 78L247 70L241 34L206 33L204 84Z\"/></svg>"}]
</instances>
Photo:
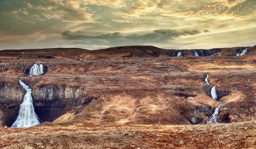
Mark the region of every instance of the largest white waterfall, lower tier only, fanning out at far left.
<instances>
[{"instance_id":1,"label":"largest white waterfall, lower tier only, fanning out at far left","mask_svg":"<svg viewBox=\"0 0 256 149\"><path fill-rule=\"evenodd\" d=\"M26 94L23 97L23 102L20 104L19 115L11 127L31 127L40 123L38 116L35 114L33 100L32 100L32 89L29 88L25 83L20 81L20 85L26 90Z\"/></svg>"}]
</instances>

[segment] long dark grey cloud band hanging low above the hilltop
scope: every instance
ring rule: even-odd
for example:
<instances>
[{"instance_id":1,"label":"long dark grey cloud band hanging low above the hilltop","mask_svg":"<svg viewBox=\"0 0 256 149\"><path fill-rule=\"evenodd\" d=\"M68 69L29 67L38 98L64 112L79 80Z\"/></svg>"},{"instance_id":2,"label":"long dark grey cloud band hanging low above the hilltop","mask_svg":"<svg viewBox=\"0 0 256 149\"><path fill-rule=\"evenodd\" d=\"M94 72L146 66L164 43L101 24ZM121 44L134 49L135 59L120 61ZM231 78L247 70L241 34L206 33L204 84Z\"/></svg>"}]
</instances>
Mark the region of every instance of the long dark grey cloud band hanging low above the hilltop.
<instances>
[{"instance_id":1,"label":"long dark grey cloud band hanging low above the hilltop","mask_svg":"<svg viewBox=\"0 0 256 149\"><path fill-rule=\"evenodd\" d=\"M80 40L90 44L108 43L111 46L116 46L125 44L167 43L170 40L174 40L181 36L189 36L199 33L201 32L198 30L175 31L161 29L145 34L121 34L119 32L114 32L99 35L86 35L84 32L64 31L61 33L61 36L66 40Z\"/></svg>"}]
</instances>

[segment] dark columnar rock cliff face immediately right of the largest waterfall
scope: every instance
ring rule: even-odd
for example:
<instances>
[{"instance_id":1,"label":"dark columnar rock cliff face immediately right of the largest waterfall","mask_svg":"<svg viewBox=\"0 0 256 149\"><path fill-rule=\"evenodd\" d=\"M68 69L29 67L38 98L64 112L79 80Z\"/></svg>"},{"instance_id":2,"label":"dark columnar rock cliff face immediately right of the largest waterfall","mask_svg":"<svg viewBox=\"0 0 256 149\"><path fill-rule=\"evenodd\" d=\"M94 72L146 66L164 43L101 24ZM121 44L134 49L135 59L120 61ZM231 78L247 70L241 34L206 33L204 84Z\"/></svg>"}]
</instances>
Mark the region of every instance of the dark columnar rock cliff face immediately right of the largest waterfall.
<instances>
[{"instance_id":1,"label":"dark columnar rock cliff face immediately right of the largest waterfall","mask_svg":"<svg viewBox=\"0 0 256 149\"><path fill-rule=\"evenodd\" d=\"M77 86L44 84L32 87L35 110L43 121L57 119L61 115L93 100L87 92Z\"/></svg>"}]
</instances>

